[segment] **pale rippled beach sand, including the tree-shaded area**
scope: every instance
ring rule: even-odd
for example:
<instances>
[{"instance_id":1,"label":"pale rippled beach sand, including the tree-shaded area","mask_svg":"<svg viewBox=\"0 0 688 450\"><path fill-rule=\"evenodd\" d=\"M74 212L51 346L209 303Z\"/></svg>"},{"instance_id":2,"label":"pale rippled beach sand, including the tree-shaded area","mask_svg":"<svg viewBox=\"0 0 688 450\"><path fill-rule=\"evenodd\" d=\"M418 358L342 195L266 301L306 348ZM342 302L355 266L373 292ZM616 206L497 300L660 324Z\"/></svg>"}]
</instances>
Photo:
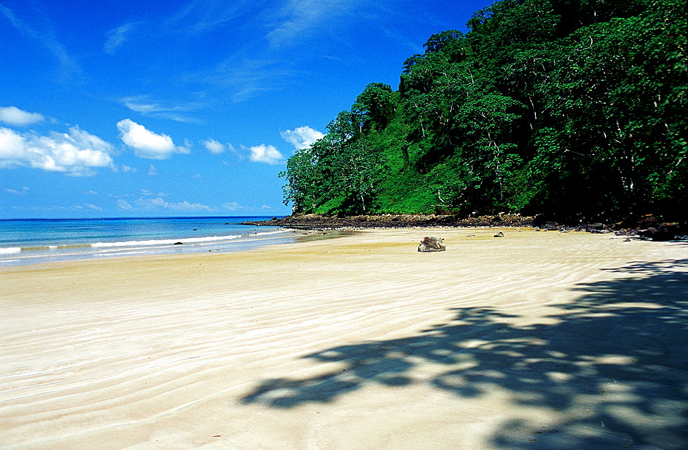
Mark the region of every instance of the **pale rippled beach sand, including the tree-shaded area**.
<instances>
[{"instance_id":1,"label":"pale rippled beach sand, including the tree-shaded area","mask_svg":"<svg viewBox=\"0 0 688 450\"><path fill-rule=\"evenodd\" d=\"M0 448L688 448L686 244L497 231L0 269Z\"/></svg>"}]
</instances>

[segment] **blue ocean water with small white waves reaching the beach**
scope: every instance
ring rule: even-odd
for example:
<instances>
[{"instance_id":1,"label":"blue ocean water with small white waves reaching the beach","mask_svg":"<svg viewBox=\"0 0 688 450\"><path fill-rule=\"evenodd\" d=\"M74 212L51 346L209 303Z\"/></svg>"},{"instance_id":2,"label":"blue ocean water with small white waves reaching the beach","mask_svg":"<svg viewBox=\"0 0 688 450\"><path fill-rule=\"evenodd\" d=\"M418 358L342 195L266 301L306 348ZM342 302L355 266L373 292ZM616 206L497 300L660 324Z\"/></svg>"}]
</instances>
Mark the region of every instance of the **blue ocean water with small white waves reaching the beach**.
<instances>
[{"instance_id":1,"label":"blue ocean water with small white waves reaching the beach","mask_svg":"<svg viewBox=\"0 0 688 450\"><path fill-rule=\"evenodd\" d=\"M297 235L286 228L241 225L270 218L0 219L0 266L208 250L228 252L294 242Z\"/></svg>"}]
</instances>

